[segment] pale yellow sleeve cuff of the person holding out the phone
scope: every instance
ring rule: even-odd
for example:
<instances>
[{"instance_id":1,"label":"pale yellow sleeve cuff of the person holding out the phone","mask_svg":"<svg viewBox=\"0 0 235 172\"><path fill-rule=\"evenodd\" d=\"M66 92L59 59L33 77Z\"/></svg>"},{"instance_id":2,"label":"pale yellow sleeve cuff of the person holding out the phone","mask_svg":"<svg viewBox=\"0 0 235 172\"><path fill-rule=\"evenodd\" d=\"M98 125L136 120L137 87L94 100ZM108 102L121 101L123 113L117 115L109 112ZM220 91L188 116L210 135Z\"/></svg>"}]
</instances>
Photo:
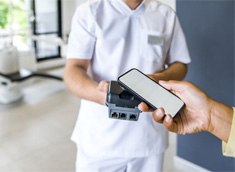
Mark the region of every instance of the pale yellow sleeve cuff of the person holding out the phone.
<instances>
[{"instance_id":1,"label":"pale yellow sleeve cuff of the person holding out the phone","mask_svg":"<svg viewBox=\"0 0 235 172\"><path fill-rule=\"evenodd\" d=\"M228 142L222 142L223 155L235 157L235 108L233 108L233 121Z\"/></svg>"}]
</instances>

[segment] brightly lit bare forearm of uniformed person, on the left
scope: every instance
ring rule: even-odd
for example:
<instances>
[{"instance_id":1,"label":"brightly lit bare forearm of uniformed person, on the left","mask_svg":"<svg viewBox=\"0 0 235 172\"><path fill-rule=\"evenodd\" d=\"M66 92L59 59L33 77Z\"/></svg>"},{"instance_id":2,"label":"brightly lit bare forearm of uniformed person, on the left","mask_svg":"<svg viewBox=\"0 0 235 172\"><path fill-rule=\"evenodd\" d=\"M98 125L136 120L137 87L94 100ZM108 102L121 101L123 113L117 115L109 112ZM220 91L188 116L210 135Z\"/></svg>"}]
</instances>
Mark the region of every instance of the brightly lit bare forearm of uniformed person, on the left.
<instances>
[{"instance_id":1,"label":"brightly lit bare forearm of uniformed person, on the left","mask_svg":"<svg viewBox=\"0 0 235 172\"><path fill-rule=\"evenodd\" d=\"M66 66L64 81L68 89L79 98L104 103L104 93L97 89L98 83L87 75L86 69L74 65Z\"/></svg>"}]
</instances>

